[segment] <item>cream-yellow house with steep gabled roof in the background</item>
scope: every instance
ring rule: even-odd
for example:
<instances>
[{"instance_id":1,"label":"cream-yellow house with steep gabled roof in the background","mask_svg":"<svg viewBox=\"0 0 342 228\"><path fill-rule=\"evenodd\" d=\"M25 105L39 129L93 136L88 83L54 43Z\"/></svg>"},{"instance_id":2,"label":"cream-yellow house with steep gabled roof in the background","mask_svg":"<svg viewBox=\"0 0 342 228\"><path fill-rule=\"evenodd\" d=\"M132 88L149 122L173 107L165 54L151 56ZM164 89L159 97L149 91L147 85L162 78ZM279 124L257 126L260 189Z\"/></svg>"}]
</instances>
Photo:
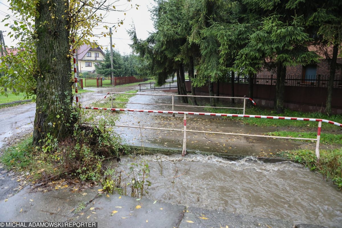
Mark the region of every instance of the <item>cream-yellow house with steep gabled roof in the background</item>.
<instances>
[{"instance_id":1,"label":"cream-yellow house with steep gabled roof in the background","mask_svg":"<svg viewBox=\"0 0 342 228\"><path fill-rule=\"evenodd\" d=\"M103 61L104 55L99 46L92 48L90 45L83 44L77 50L78 72L94 72L95 65Z\"/></svg>"}]
</instances>

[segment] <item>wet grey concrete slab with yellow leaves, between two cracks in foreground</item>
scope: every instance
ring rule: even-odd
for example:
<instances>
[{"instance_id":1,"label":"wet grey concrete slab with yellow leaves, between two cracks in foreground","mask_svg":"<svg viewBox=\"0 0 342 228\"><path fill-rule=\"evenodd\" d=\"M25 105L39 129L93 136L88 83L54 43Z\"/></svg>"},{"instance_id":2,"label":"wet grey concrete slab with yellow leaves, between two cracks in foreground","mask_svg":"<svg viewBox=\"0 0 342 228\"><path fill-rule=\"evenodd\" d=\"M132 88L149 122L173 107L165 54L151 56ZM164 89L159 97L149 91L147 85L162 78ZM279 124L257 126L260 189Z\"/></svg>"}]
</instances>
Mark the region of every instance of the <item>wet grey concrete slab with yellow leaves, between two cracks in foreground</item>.
<instances>
[{"instance_id":1,"label":"wet grey concrete slab with yellow leaves, between two cracks in foreground","mask_svg":"<svg viewBox=\"0 0 342 228\"><path fill-rule=\"evenodd\" d=\"M98 227L106 228L172 228L178 227L184 211L185 206L110 195L95 199L88 205L87 211L74 220L98 222Z\"/></svg>"}]
</instances>

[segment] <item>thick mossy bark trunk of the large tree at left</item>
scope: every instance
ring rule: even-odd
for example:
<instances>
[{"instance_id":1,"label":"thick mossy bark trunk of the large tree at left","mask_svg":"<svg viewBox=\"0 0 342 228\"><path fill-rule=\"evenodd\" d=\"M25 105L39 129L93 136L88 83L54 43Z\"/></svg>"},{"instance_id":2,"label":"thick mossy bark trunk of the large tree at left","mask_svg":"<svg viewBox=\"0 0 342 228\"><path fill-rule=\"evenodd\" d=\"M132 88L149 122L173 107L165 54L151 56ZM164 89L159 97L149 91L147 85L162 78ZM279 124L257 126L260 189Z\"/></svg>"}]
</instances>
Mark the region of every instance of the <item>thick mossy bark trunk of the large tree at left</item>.
<instances>
[{"instance_id":1,"label":"thick mossy bark trunk of the large tree at left","mask_svg":"<svg viewBox=\"0 0 342 228\"><path fill-rule=\"evenodd\" d=\"M48 3L49 2L49 3ZM35 27L37 42L36 117L33 145L41 146L43 139L61 139L69 136L73 96L71 93L71 58L69 43L68 1L41 0L36 5ZM51 9L49 9L51 8ZM52 18L51 15L54 15Z\"/></svg>"}]
</instances>

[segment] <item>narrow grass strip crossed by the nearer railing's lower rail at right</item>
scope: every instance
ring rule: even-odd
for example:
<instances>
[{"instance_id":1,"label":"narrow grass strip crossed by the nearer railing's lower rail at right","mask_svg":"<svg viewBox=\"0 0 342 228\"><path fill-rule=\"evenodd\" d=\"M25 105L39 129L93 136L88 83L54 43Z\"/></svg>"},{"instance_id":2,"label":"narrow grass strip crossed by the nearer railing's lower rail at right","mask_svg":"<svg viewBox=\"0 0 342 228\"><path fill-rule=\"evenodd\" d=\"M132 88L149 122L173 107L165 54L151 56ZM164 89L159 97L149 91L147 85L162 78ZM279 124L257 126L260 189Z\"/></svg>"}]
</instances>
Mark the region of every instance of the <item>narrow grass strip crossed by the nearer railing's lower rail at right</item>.
<instances>
[{"instance_id":1,"label":"narrow grass strip crossed by the nearer railing's lower rail at right","mask_svg":"<svg viewBox=\"0 0 342 228\"><path fill-rule=\"evenodd\" d=\"M281 137L295 137L295 138L316 138L317 137L316 132L291 132L291 131L268 132L266 133L266 135L281 136ZM300 139L296 139L296 140L303 141ZM330 145L336 145L336 144L342 145L342 135L321 133L320 143L330 144Z\"/></svg>"}]
</instances>

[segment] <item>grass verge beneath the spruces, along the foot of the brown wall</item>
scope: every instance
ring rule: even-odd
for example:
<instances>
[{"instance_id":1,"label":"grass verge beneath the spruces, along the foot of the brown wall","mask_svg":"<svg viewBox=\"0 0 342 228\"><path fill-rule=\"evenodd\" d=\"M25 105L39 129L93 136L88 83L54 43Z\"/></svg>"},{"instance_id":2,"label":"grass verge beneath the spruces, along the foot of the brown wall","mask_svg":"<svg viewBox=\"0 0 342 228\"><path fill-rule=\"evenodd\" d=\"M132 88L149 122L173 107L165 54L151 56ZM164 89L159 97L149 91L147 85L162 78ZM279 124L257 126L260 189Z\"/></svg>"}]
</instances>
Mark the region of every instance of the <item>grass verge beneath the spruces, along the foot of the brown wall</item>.
<instances>
[{"instance_id":1,"label":"grass verge beneath the spruces, along the foot of the brown wall","mask_svg":"<svg viewBox=\"0 0 342 228\"><path fill-rule=\"evenodd\" d=\"M227 109L227 108L204 108L209 112L216 113L230 113L230 114L242 114L239 109ZM261 115L261 116L287 116L287 117L303 117L303 118L316 118L327 119L334 122L342 123L342 115L328 116L320 112L301 112L286 109L284 113L277 114L273 109L248 107L246 108L247 115ZM256 125L261 127L296 127L302 129L317 129L318 122L312 121L298 121L298 120L277 120L277 119L261 119L261 118L239 118L239 117L227 117L232 120L237 120L244 124ZM337 126L332 124L323 123L324 129L338 129Z\"/></svg>"}]
</instances>

